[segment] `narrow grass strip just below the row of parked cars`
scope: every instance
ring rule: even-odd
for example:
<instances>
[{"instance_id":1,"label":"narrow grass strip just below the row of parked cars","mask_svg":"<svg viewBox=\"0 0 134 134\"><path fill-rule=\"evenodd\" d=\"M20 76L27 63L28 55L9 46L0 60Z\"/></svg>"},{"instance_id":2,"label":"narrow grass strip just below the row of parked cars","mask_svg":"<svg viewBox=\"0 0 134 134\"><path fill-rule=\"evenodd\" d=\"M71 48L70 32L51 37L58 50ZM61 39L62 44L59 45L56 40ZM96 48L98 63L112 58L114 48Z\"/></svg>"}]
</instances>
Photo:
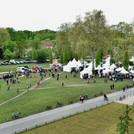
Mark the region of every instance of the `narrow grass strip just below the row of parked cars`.
<instances>
[{"instance_id":1,"label":"narrow grass strip just below the row of parked cars","mask_svg":"<svg viewBox=\"0 0 134 134\"><path fill-rule=\"evenodd\" d=\"M8 71L16 71L18 66L28 66L32 69L32 66L39 65L43 66L43 68L49 68L50 63L28 63L28 64L16 64L16 65L2 65L0 66L0 72L8 72Z\"/></svg>"}]
</instances>

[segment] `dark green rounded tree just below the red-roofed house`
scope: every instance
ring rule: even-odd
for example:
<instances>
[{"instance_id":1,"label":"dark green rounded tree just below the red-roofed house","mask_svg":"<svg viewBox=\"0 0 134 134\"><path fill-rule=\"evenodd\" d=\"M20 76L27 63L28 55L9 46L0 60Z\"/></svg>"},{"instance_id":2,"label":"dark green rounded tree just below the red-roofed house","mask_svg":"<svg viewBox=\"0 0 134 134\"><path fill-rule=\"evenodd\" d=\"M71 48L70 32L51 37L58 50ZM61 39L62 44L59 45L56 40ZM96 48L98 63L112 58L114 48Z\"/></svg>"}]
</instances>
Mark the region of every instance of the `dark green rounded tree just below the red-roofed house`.
<instances>
[{"instance_id":1,"label":"dark green rounded tree just below the red-roofed house","mask_svg":"<svg viewBox=\"0 0 134 134\"><path fill-rule=\"evenodd\" d=\"M38 50L37 50L37 53L38 53L38 58L37 58L37 60L38 60L39 62L44 62L44 61L46 61L47 57L49 56L49 54L48 54L48 49L47 49L47 48L38 49Z\"/></svg>"}]
</instances>

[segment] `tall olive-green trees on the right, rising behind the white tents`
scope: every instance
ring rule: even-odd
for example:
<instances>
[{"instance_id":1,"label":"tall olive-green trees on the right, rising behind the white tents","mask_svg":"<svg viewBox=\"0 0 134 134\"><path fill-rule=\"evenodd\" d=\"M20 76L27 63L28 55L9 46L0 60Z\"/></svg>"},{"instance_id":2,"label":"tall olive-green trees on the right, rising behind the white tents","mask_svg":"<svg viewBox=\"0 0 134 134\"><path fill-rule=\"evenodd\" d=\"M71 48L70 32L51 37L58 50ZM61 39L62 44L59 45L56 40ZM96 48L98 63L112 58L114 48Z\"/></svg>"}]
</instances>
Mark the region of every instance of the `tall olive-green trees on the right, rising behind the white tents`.
<instances>
[{"instance_id":1,"label":"tall olive-green trees on the right, rising behind the white tents","mask_svg":"<svg viewBox=\"0 0 134 134\"><path fill-rule=\"evenodd\" d=\"M67 49L68 59L91 56L93 65L95 58L99 65L104 55L111 55L111 63L121 61L126 65L128 61L124 59L129 60L134 54L133 29L133 23L108 25L101 10L86 12L83 18L78 16L73 24L64 23L59 27L56 33L56 52L63 57L62 53Z\"/></svg>"}]
</instances>

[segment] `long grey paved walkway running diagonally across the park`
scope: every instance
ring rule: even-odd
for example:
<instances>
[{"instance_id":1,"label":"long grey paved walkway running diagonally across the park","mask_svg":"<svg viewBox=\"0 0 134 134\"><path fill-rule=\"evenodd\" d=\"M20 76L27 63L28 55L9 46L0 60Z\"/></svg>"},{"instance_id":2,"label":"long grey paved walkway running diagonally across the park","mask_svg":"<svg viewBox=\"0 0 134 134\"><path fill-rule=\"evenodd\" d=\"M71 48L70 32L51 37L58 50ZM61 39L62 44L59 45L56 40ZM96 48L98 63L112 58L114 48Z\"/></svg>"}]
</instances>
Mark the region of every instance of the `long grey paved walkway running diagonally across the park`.
<instances>
[{"instance_id":1,"label":"long grey paved walkway running diagonally across the park","mask_svg":"<svg viewBox=\"0 0 134 134\"><path fill-rule=\"evenodd\" d=\"M128 89L125 92L119 91L107 95L109 98L108 102L104 101L103 96L100 96L94 99L87 100L84 103L78 102L61 108L31 115L22 119L3 123L0 124L0 134L13 134L15 132L20 132L29 128L33 128L36 125L42 125L54 120L61 119L63 117L90 110L91 108L96 108L107 103L117 101L119 97L122 97L123 95L128 97L130 94L131 96L134 95L134 88Z\"/></svg>"}]
</instances>

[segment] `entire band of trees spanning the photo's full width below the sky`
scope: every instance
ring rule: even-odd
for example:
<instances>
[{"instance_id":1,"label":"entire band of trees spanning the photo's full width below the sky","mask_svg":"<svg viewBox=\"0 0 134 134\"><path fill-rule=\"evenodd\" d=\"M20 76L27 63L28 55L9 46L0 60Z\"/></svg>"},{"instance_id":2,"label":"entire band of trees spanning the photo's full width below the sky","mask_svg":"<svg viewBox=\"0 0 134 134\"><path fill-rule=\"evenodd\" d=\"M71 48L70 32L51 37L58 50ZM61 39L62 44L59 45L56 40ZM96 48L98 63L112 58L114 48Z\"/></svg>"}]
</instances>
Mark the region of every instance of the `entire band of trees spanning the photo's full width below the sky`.
<instances>
[{"instance_id":1,"label":"entire band of trees spanning the photo's full width below the sky","mask_svg":"<svg viewBox=\"0 0 134 134\"><path fill-rule=\"evenodd\" d=\"M53 42L55 47L50 50L47 57L55 53L60 57L61 63L66 63L72 58L85 59L91 56L99 65L104 55L111 55L111 63L121 61L127 64L127 60L134 53L134 25L119 22L117 25L108 25L106 17L101 10L86 12L84 17L76 17L73 23L63 23L58 31L15 31L13 28L0 28L0 56L23 57L28 56L37 59L43 41ZM33 48L26 53L26 49ZM33 55L35 54L35 55ZM52 59L52 58L51 58ZM125 59L125 61L124 61ZM128 65L127 65L128 66ZM94 68L94 66L93 66Z\"/></svg>"}]
</instances>

